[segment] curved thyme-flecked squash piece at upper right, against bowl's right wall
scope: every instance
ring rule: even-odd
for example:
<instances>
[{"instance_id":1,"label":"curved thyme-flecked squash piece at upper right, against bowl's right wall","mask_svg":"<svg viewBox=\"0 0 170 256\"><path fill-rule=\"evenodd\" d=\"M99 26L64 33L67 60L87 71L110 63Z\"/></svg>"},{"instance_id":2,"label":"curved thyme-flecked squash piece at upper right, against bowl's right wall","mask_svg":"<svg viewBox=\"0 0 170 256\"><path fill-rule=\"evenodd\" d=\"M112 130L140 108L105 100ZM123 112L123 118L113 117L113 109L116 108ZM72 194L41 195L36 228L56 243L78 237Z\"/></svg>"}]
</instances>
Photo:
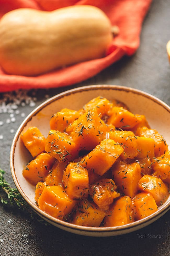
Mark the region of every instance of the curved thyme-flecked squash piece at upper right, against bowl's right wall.
<instances>
[{"instance_id":1,"label":"curved thyme-flecked squash piece at upper right, against bowl's right wall","mask_svg":"<svg viewBox=\"0 0 170 256\"><path fill-rule=\"evenodd\" d=\"M161 156L168 151L168 145L164 140L163 136L160 135L155 129L148 129L148 127L144 126L138 128L136 131L136 135L143 136L146 138L154 139L155 141L155 157Z\"/></svg>"}]
</instances>

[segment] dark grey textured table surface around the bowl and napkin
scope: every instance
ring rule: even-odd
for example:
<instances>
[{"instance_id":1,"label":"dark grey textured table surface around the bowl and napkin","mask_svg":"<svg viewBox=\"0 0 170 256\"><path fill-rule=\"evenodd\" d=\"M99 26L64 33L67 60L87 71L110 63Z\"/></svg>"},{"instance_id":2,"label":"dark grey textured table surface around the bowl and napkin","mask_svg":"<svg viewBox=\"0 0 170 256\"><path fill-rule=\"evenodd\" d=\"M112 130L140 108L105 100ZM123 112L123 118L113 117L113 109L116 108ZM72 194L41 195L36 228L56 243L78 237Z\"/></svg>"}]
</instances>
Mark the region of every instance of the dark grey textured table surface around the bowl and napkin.
<instances>
[{"instance_id":1,"label":"dark grey textured table surface around the bowl and napkin","mask_svg":"<svg viewBox=\"0 0 170 256\"><path fill-rule=\"evenodd\" d=\"M141 32L141 44L136 54L124 57L97 76L69 88L38 90L36 106L45 95L53 96L67 89L90 84L130 86L150 93L170 105L170 66L166 43L170 40L170 1L153 1ZM30 92L32 93L32 91ZM34 93L34 92L33 92ZM2 97L4 95L1 95ZM24 114L34 107L19 106L15 122L6 124L8 113L0 114L0 167L14 186L10 174L9 154L14 133ZM18 111L18 112L19 112ZM1 136L2 138L2 136ZM44 226L18 209L0 204L0 255L170 255L170 212L148 227L117 237L84 237L67 233L53 226ZM144 235L150 237L144 238ZM156 236L159 236L156 238ZM154 238L155 236L155 238Z\"/></svg>"}]
</instances>

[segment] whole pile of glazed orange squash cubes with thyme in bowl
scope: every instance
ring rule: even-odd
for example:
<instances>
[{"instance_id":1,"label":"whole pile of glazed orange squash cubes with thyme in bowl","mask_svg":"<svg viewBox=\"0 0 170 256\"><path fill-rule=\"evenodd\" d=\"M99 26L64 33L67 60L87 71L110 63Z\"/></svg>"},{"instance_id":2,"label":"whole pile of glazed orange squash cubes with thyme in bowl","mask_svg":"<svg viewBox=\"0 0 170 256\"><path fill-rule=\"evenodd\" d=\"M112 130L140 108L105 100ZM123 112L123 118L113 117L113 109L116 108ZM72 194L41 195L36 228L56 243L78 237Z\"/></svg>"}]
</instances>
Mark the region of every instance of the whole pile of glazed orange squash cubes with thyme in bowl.
<instances>
[{"instance_id":1,"label":"whole pile of glazed orange squash cubes with thyme in bowl","mask_svg":"<svg viewBox=\"0 0 170 256\"><path fill-rule=\"evenodd\" d=\"M98 96L78 111L61 109L50 128L47 139L30 127L21 140L36 157L23 176L37 184L35 201L51 216L121 226L155 213L169 198L167 143L124 103Z\"/></svg>"}]
</instances>

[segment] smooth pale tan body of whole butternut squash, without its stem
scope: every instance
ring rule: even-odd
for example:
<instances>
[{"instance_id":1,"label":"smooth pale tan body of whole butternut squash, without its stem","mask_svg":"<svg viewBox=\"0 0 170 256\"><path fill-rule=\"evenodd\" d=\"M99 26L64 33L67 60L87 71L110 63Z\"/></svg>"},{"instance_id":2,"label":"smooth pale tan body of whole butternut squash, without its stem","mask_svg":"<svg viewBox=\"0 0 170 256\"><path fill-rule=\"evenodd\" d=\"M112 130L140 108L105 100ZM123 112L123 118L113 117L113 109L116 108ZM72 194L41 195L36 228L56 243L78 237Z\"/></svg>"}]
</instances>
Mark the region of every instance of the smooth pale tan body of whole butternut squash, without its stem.
<instances>
[{"instance_id":1,"label":"smooth pale tan body of whole butternut squash, without its stem","mask_svg":"<svg viewBox=\"0 0 170 256\"><path fill-rule=\"evenodd\" d=\"M111 41L111 23L97 7L16 9L0 22L0 64L9 74L38 75L102 58Z\"/></svg>"}]
</instances>

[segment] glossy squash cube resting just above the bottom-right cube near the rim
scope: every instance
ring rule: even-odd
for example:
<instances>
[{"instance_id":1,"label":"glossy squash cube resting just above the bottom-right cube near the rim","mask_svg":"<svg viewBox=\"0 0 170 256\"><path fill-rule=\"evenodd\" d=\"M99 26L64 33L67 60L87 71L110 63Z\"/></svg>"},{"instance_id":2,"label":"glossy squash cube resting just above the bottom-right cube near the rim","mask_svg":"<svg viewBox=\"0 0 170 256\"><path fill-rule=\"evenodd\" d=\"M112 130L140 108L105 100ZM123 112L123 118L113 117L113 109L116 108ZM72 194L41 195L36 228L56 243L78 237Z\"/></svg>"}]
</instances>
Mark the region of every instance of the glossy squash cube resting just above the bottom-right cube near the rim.
<instances>
[{"instance_id":1,"label":"glossy squash cube resting just above the bottom-right cube near the rim","mask_svg":"<svg viewBox=\"0 0 170 256\"><path fill-rule=\"evenodd\" d=\"M156 176L144 175L139 181L138 189L152 194L158 206L165 203L169 197L168 186Z\"/></svg>"}]
</instances>

